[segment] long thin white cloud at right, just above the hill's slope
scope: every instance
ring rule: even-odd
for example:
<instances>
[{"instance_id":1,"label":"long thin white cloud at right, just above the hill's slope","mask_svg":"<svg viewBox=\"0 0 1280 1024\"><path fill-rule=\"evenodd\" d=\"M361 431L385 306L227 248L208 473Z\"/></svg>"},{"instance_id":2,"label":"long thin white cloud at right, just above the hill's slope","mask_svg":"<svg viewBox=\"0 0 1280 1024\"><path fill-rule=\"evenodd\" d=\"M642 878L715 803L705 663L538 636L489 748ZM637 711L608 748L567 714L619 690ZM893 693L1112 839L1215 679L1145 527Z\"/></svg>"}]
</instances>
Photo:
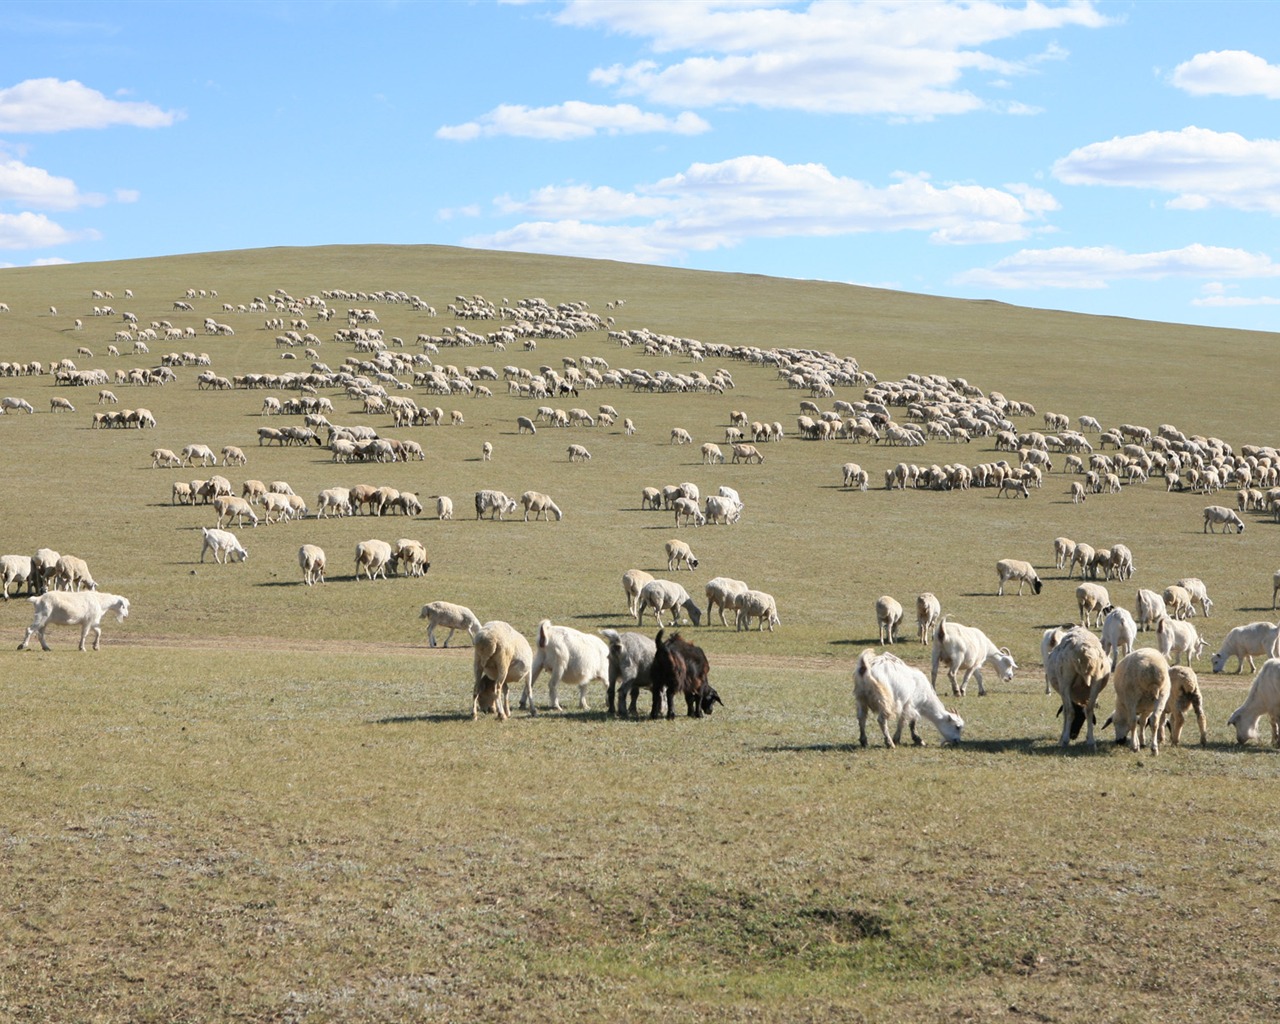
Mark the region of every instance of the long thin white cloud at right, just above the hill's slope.
<instances>
[{"instance_id":1,"label":"long thin white cloud at right, just above the hill's slope","mask_svg":"<svg viewBox=\"0 0 1280 1024\"><path fill-rule=\"evenodd\" d=\"M1165 278L1275 278L1280 265L1261 252L1192 244L1161 252L1114 246L1021 250L991 268L965 271L957 284L986 288L1106 288L1120 280Z\"/></svg>"}]
</instances>

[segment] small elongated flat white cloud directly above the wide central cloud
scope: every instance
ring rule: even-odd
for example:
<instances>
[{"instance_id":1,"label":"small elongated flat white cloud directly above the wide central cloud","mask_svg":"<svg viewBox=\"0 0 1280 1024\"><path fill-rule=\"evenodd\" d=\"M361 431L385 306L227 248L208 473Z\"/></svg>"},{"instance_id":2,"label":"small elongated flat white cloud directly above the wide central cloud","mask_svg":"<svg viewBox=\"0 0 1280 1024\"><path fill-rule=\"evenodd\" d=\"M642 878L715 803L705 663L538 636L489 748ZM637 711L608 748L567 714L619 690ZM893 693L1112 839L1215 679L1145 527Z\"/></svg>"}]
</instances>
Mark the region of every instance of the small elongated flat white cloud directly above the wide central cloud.
<instances>
[{"instance_id":1,"label":"small elongated flat white cloud directly above the wide central cloud","mask_svg":"<svg viewBox=\"0 0 1280 1024\"><path fill-rule=\"evenodd\" d=\"M435 137L454 142L493 136L563 141L641 132L692 136L709 129L705 120L689 111L668 118L664 114L646 113L631 104L603 106L570 100L556 106L535 108L503 104L466 124L447 124L436 131Z\"/></svg>"}]
</instances>

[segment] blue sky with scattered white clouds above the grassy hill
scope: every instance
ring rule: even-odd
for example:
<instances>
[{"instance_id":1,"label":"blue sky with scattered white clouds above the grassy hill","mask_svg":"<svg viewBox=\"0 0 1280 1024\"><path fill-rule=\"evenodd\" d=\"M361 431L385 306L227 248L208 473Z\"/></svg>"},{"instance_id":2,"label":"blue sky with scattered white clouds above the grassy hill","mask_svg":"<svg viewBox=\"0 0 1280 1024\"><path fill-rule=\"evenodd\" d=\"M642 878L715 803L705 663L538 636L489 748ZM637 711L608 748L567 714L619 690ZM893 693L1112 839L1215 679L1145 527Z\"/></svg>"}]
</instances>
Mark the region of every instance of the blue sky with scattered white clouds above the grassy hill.
<instances>
[{"instance_id":1,"label":"blue sky with scattered white clouds above the grassy hill","mask_svg":"<svg viewBox=\"0 0 1280 1024\"><path fill-rule=\"evenodd\" d=\"M430 243L1280 330L1272 3L5 0L0 52L0 266Z\"/></svg>"}]
</instances>

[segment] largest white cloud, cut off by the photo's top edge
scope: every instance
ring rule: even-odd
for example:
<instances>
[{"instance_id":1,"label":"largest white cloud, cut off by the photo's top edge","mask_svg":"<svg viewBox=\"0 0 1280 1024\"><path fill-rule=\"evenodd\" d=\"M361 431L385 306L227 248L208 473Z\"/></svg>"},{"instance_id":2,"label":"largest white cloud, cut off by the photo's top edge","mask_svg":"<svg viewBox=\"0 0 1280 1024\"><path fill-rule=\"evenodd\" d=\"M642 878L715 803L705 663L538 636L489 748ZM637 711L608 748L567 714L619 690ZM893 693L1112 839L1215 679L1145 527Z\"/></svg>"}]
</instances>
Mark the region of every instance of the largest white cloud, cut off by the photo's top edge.
<instances>
[{"instance_id":1,"label":"largest white cloud, cut off by the photo's top edge","mask_svg":"<svg viewBox=\"0 0 1280 1024\"><path fill-rule=\"evenodd\" d=\"M983 47L1027 32L1108 24L1092 3L1019 6L975 3L849 3L803 6L576 0L562 24L648 40L655 54L691 56L598 68L591 81L669 106L750 105L928 119L978 109L1030 113L1015 101L988 105L961 78L989 74L996 86L1062 51L1010 60Z\"/></svg>"}]
</instances>

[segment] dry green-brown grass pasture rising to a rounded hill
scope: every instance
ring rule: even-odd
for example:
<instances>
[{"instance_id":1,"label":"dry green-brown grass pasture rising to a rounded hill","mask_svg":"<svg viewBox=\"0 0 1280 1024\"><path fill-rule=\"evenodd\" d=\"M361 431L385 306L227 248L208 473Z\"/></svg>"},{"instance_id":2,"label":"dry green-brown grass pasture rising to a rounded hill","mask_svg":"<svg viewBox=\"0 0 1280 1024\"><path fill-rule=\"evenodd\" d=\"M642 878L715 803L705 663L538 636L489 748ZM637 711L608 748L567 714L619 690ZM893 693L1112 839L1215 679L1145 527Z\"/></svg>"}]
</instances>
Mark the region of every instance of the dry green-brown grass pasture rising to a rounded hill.
<instances>
[{"instance_id":1,"label":"dry green-brown grass pasture rising to a rounded hill","mask_svg":"<svg viewBox=\"0 0 1280 1024\"><path fill-rule=\"evenodd\" d=\"M174 312L188 287L218 289ZM123 298L132 288L133 300ZM109 372L163 352L207 352L223 375L305 370L264 328L271 314L221 311L280 288L398 289L439 310L375 308L387 337L456 321L456 294L515 302L588 301L618 329L704 343L803 347L856 356L881 380L963 376L986 390L1105 426L1171 422L1236 448L1275 444L1274 335L1083 317L819 282L716 275L602 261L438 247L334 247L207 253L0 271L0 361L69 357ZM92 289L115 293L92 316ZM50 307L58 308L56 315ZM119 312L143 321L230 324L234 337L106 347ZM83 320L72 330L73 317ZM311 319L319 357L352 355ZM485 333L497 321L467 321ZM84 346L93 356L81 357ZM420 351L420 349L419 349ZM18 653L26 600L0 608L0 1016L54 1020L1265 1020L1280 1011L1274 810L1280 755L1238 749L1225 727L1249 673L1198 663L1207 749L1134 755L1100 744L1061 753L1056 700L1043 694L1043 628L1076 617L1074 581L1052 540L1128 544L1138 586L1199 576L1216 648L1228 628L1274 618L1280 526L1245 515L1242 535L1206 535L1215 498L1162 483L1068 498L1053 472L1029 499L995 492L886 492L899 461L1002 457L989 439L923 448L804 442L799 402L767 366L645 356L603 332L532 352L442 348L436 362L559 367L564 356L710 374L724 394L584 390L547 404L599 402L636 421L517 435L538 401L436 398L458 426L396 429L334 392L338 424L419 440L422 462L337 465L320 448L259 447L262 390L200 390L195 367L166 387L110 385L150 408L155 430L92 430L97 388L50 376L0 379L33 415L0 416L0 552L52 547L86 558L132 613L79 654L72 631L51 653ZM76 412L51 413L50 398ZM861 389L838 389L855 401ZM832 399L818 399L829 407ZM703 466L730 410L780 420L759 466ZM900 413L901 415L901 413ZM1042 429L1042 420L1019 420ZM671 445L673 426L692 445ZM480 445L494 445L492 462ZM287 480L314 502L356 483L415 490L404 517L307 518L243 529L243 564L201 564L209 507L170 503L174 480L150 452L191 442L242 447L244 479ZM566 447L593 458L570 463ZM841 486L860 462L872 489ZM680 527L640 511L643 486L735 486L732 527ZM471 495L550 494L559 522L477 522ZM435 518L431 495L457 517ZM417 538L420 580L352 579L355 544ZM712 662L726 708L707 721L618 722L603 692L580 712L472 722L466 648L431 650L417 611L453 600L532 636L540 618L594 631L634 628L620 577L667 573L663 544L700 558L678 579L696 598L719 575L777 596L777 632L686 628ZM297 548L321 545L329 582L301 585ZM995 562L1032 561L1043 593L996 598ZM956 621L1009 645L1020 669L978 699L946 698L965 742L858 748L856 655L876 643L872 605L934 591ZM705 603L704 603L705 604ZM646 620L646 632L652 626ZM897 653L928 669L928 652ZM457 639L457 637L456 637ZM1139 643L1143 643L1139 635ZM545 677L536 696L545 703ZM648 698L641 698L645 707ZM1100 707L1110 713L1107 691ZM1194 739L1194 726L1184 733Z\"/></svg>"}]
</instances>

